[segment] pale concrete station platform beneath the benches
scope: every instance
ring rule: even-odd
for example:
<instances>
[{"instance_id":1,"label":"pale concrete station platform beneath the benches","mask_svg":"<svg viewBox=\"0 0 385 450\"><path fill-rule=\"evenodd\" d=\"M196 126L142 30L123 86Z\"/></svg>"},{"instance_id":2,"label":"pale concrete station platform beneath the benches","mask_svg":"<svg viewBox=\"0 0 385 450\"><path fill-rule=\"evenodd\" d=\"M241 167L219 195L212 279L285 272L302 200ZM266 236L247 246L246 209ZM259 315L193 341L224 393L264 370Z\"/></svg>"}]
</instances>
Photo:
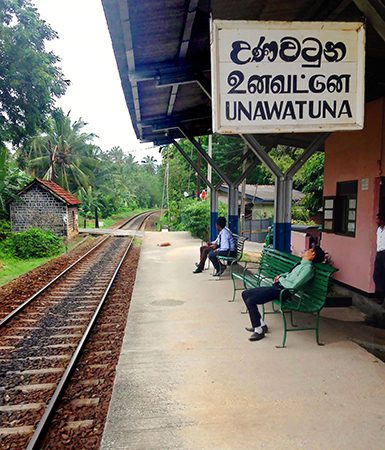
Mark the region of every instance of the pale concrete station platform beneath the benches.
<instances>
[{"instance_id":1,"label":"pale concrete station platform beneath the benches","mask_svg":"<svg viewBox=\"0 0 385 450\"><path fill-rule=\"evenodd\" d=\"M199 244L145 234L102 449L384 448L385 365L351 341L384 331L333 309L323 347L304 331L276 348L279 316L249 342L228 276L192 274Z\"/></svg>"}]
</instances>

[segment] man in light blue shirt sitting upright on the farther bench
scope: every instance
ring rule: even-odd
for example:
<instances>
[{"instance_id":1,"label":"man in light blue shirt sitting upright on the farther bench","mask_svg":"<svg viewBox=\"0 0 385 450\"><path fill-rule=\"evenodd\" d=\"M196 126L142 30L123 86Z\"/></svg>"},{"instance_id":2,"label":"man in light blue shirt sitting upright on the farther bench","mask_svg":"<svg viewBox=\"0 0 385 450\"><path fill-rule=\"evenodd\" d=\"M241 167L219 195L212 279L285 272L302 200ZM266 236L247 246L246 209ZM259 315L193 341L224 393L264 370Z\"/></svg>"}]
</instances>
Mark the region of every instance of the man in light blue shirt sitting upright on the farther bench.
<instances>
[{"instance_id":1,"label":"man in light blue shirt sitting upright on the farther bench","mask_svg":"<svg viewBox=\"0 0 385 450\"><path fill-rule=\"evenodd\" d=\"M213 263L216 273L219 276L224 272L226 266L220 264L217 255L236 256L235 241L231 231L226 227L226 219L218 217L216 228L219 232L218 237L213 242L208 242L200 248L200 261L193 273L201 273L205 266L207 256Z\"/></svg>"}]
</instances>

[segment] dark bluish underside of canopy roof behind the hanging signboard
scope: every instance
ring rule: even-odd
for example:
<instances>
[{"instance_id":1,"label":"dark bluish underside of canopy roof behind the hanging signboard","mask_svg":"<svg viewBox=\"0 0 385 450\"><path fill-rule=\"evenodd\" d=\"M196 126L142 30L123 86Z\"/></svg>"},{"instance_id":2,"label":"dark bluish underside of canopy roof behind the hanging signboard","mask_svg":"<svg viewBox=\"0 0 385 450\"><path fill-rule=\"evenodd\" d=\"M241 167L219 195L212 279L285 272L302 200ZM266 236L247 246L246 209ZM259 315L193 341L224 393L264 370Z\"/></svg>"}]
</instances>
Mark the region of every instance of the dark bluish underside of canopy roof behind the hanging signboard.
<instances>
[{"instance_id":1,"label":"dark bluish underside of canopy roof behind the hanging signboard","mask_svg":"<svg viewBox=\"0 0 385 450\"><path fill-rule=\"evenodd\" d=\"M136 135L143 141L162 144L181 138L180 125L194 136L211 132L210 14L214 19L361 21L364 11L369 19L366 99L385 95L381 0L102 1L127 106ZM265 145L272 138L258 136ZM306 147L314 135L274 138L284 145Z\"/></svg>"}]
</instances>

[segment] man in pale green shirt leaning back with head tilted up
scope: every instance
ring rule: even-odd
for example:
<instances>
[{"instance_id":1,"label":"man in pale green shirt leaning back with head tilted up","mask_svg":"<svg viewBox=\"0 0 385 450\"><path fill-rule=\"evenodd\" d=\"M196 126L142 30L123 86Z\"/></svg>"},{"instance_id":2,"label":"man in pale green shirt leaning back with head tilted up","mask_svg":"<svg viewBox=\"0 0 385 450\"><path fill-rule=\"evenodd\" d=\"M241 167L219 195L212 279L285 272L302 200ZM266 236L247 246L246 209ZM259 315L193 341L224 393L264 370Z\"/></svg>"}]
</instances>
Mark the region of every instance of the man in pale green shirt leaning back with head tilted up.
<instances>
[{"instance_id":1,"label":"man in pale green shirt leaning back with head tilted up","mask_svg":"<svg viewBox=\"0 0 385 450\"><path fill-rule=\"evenodd\" d=\"M299 289L305 285L314 276L313 264L323 262L325 252L321 247L315 246L306 250L301 256L301 263L294 266L290 272L275 277L273 286L246 289L242 292L252 325L252 328L246 328L253 333L249 337L250 341L260 341L267 333L267 325L261 318L258 305L278 299L282 289Z\"/></svg>"}]
</instances>

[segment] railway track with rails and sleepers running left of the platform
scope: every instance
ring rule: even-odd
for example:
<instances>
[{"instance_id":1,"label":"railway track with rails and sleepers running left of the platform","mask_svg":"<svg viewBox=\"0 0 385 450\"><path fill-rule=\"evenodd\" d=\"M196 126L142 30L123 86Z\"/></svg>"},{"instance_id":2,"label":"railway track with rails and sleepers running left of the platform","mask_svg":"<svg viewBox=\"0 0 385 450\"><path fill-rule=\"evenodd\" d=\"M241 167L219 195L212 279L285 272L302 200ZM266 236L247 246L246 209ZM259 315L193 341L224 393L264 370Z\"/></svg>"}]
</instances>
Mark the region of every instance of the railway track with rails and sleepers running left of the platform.
<instances>
[{"instance_id":1,"label":"railway track with rails and sleepers running left of the platform","mask_svg":"<svg viewBox=\"0 0 385 450\"><path fill-rule=\"evenodd\" d=\"M41 448L132 241L103 239L0 322L1 449Z\"/></svg>"}]
</instances>

